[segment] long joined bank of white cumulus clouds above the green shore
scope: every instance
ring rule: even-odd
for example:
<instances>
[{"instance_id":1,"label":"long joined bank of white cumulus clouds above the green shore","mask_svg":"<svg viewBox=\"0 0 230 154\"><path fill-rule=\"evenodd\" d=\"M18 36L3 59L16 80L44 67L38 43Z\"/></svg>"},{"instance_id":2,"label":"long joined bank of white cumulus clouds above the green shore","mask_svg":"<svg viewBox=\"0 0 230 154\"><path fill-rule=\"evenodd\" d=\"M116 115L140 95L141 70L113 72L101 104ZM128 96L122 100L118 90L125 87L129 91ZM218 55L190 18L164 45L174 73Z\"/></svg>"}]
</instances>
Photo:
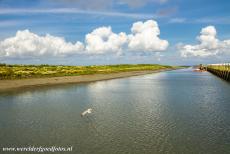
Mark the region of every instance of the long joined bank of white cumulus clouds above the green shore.
<instances>
[{"instance_id":1,"label":"long joined bank of white cumulus clouds above the green shore","mask_svg":"<svg viewBox=\"0 0 230 154\"><path fill-rule=\"evenodd\" d=\"M164 51L169 43L160 39L159 35L160 29L154 20L134 23L130 34L114 33L111 27L99 27L85 36L85 43L67 42L61 37L49 34L40 36L23 30L14 37L0 41L0 57L40 58Z\"/></svg>"}]
</instances>

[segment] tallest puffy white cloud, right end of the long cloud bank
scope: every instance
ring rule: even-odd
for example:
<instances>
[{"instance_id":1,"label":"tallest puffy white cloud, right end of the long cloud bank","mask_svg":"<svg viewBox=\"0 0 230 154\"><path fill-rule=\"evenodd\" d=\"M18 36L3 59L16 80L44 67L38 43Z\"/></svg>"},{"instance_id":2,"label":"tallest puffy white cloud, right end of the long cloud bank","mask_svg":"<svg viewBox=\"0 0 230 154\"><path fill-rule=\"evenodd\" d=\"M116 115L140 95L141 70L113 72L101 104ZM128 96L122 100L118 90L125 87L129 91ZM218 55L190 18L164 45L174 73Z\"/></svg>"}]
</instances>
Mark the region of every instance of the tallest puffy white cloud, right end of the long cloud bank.
<instances>
[{"instance_id":1,"label":"tallest puffy white cloud, right end of the long cloud bank","mask_svg":"<svg viewBox=\"0 0 230 154\"><path fill-rule=\"evenodd\" d=\"M129 35L128 48L131 51L163 51L169 43L159 38L160 29L154 20L136 22L132 26L132 34Z\"/></svg>"}]
</instances>

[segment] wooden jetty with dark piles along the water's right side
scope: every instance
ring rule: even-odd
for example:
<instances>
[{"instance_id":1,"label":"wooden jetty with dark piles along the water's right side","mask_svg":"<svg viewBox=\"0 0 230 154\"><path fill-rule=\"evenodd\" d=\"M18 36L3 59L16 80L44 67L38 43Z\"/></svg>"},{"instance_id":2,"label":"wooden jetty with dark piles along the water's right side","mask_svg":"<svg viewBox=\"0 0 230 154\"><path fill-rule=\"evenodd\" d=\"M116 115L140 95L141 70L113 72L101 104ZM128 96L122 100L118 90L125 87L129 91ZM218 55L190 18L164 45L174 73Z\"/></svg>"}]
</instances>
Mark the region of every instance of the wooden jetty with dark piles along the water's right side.
<instances>
[{"instance_id":1,"label":"wooden jetty with dark piles along the water's right side","mask_svg":"<svg viewBox=\"0 0 230 154\"><path fill-rule=\"evenodd\" d=\"M230 81L230 63L208 64L207 71Z\"/></svg>"}]
</instances>

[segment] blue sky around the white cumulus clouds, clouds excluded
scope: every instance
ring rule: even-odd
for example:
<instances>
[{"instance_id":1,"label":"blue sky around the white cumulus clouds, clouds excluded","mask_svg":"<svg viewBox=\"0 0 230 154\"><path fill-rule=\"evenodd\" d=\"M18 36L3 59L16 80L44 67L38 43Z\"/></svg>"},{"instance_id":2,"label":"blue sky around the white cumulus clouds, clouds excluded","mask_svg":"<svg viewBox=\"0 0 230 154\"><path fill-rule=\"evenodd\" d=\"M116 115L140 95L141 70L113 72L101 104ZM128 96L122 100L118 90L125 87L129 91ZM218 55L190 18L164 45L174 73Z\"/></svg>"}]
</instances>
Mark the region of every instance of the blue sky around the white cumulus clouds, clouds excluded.
<instances>
[{"instance_id":1,"label":"blue sky around the white cumulus clouds, clouds excluded","mask_svg":"<svg viewBox=\"0 0 230 154\"><path fill-rule=\"evenodd\" d=\"M51 63L70 65L113 63L160 63L186 65L197 63L225 62L230 58L229 46L217 49L197 47L199 54L181 56L178 44L199 44L197 36L202 28L215 27L218 40L230 39L230 1L228 0L0 0L0 41L12 38L17 31L28 29L38 36L50 34L62 37L66 42L85 42L86 34L110 26L112 32L130 34L133 23L154 20L160 29L159 38L169 45L164 51L126 52L114 54L71 54L71 56L10 57L6 45L0 45L1 62L6 63ZM3 44L3 43L2 43ZM202 44L202 43L201 43ZM12 45L9 45L12 46ZM86 46L86 45L85 45ZM221 46L221 45L220 45ZM3 48L4 47L4 48ZM15 46L14 46L15 47ZM228 48L229 47L229 48ZM200 50L218 54L200 54ZM16 49L15 49L16 50ZM123 49L122 49L123 50ZM18 49L18 52L21 51ZM13 52L13 51L12 51ZM37 51L35 51L37 52ZM186 51L187 52L187 51ZM92 53L92 52L91 52ZM188 53L188 52L187 52ZM191 55L191 54L187 54ZM194 56L198 55L198 56Z\"/></svg>"}]
</instances>

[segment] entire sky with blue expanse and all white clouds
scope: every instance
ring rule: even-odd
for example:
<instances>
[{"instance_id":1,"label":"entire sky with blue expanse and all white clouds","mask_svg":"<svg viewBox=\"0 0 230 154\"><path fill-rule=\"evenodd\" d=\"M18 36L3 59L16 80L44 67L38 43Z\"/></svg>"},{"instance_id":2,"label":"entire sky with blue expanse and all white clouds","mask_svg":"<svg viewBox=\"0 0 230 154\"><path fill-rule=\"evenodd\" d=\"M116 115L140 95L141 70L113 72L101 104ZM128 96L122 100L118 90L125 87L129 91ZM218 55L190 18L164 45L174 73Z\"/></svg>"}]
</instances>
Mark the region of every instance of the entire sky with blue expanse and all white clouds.
<instances>
[{"instance_id":1,"label":"entire sky with blue expanse and all white clouds","mask_svg":"<svg viewBox=\"0 0 230 154\"><path fill-rule=\"evenodd\" d=\"M229 0L0 0L0 63L229 61Z\"/></svg>"}]
</instances>

